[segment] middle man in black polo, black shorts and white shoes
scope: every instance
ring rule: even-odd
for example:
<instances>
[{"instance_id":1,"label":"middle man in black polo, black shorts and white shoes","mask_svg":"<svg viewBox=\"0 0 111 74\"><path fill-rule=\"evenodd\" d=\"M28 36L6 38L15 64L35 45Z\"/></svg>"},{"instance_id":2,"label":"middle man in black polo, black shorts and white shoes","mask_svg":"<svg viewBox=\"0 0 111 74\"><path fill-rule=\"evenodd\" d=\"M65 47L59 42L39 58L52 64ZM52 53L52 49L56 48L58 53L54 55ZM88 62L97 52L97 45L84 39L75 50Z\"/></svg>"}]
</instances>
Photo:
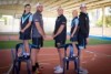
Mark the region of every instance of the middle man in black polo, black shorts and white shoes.
<instances>
[{"instance_id":1,"label":"middle man in black polo, black shorts and white shoes","mask_svg":"<svg viewBox=\"0 0 111 74\"><path fill-rule=\"evenodd\" d=\"M65 44L67 40L67 19L63 15L63 9L61 7L58 8L58 18L56 20L56 27L53 32L53 39L56 41L56 47L58 49L60 65L54 67L54 73L62 73L63 72L63 64L62 64L62 50L59 49L60 45Z\"/></svg>"}]
</instances>

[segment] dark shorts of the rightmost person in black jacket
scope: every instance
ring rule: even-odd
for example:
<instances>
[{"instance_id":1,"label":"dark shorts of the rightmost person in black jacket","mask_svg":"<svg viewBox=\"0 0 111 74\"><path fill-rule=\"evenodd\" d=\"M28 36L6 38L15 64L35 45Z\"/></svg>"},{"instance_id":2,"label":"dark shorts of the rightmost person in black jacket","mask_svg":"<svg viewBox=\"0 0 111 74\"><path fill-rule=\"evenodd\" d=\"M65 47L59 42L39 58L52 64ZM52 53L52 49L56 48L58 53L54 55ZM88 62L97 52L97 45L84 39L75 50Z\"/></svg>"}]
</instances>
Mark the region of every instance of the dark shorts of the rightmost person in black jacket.
<instances>
[{"instance_id":1,"label":"dark shorts of the rightmost person in black jacket","mask_svg":"<svg viewBox=\"0 0 111 74\"><path fill-rule=\"evenodd\" d=\"M79 46L85 49L87 38L84 35L79 34L78 35L78 44L79 44Z\"/></svg>"}]
</instances>

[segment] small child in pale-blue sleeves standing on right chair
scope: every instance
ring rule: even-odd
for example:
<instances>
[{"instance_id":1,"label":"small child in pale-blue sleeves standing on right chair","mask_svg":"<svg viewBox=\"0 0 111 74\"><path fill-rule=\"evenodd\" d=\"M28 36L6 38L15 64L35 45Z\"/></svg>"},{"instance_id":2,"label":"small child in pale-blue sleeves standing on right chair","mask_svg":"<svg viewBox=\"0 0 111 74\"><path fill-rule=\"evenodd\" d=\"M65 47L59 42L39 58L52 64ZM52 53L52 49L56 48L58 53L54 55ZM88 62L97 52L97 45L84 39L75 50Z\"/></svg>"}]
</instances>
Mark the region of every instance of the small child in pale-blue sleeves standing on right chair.
<instances>
[{"instance_id":1,"label":"small child in pale-blue sleeves standing on right chair","mask_svg":"<svg viewBox=\"0 0 111 74\"><path fill-rule=\"evenodd\" d=\"M72 56L75 56L74 51L77 49L75 44L78 41L78 24L79 24L78 11L73 10L72 15L73 15L73 19L71 21L70 41L72 42L72 45L73 45L73 55Z\"/></svg>"}]
</instances>

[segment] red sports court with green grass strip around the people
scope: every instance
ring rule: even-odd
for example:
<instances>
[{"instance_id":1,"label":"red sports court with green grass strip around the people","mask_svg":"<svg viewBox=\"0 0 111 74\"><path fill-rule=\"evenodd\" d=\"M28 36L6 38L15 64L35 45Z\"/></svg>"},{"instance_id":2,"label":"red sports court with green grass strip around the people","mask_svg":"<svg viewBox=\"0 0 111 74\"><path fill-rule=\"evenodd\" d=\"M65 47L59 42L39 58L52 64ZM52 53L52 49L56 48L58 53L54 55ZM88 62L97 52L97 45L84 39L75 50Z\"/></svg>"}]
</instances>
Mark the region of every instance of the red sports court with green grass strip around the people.
<instances>
[{"instance_id":1,"label":"red sports court with green grass strip around the people","mask_svg":"<svg viewBox=\"0 0 111 74\"><path fill-rule=\"evenodd\" d=\"M12 60L10 50L14 49L14 45L20 42L18 35L11 35L10 41L9 35L0 35L0 59L2 59L0 61L0 74L11 74ZM68 40L67 43L69 42ZM81 60L81 66L89 74L111 74L111 40L90 38ZM59 64L59 57L52 39L44 41L44 47L40 50L39 62L43 66L41 70L42 74L53 74L53 67ZM70 68L65 73L75 74L73 68L73 63L71 62ZM26 63L22 63L21 74L27 74Z\"/></svg>"}]
</instances>

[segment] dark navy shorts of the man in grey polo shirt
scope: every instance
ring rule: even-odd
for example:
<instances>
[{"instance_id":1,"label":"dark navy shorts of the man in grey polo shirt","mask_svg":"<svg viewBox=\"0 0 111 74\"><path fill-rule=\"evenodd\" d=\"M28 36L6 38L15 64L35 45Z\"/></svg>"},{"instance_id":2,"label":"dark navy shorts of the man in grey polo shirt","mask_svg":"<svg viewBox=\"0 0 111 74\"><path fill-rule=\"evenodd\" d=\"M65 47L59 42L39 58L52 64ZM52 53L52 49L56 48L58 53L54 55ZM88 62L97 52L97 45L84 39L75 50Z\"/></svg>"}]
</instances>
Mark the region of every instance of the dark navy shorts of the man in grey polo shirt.
<instances>
[{"instance_id":1,"label":"dark navy shorts of the man in grey polo shirt","mask_svg":"<svg viewBox=\"0 0 111 74\"><path fill-rule=\"evenodd\" d=\"M32 38L32 47L40 49L43 46L43 39L42 38Z\"/></svg>"}]
</instances>

